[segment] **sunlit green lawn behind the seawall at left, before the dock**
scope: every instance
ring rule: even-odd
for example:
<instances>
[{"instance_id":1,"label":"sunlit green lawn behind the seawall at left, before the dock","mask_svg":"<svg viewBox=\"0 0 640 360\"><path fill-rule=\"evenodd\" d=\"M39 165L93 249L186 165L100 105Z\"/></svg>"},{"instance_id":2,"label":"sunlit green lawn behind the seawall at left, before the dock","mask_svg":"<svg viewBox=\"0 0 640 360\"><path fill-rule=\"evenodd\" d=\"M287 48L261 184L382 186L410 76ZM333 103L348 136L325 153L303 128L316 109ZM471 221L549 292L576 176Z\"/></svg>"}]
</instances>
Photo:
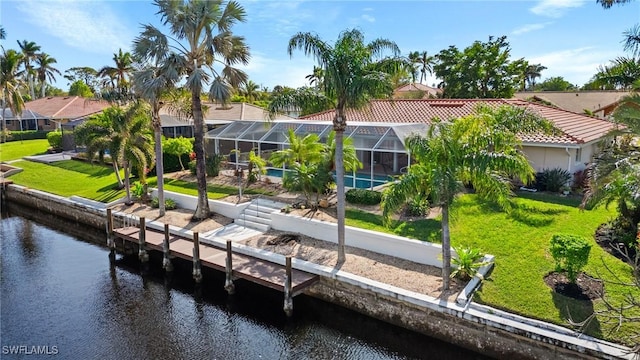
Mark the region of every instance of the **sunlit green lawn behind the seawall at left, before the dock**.
<instances>
[{"instance_id":1,"label":"sunlit green lawn behind the seawall at left, before the dock","mask_svg":"<svg viewBox=\"0 0 640 360\"><path fill-rule=\"evenodd\" d=\"M21 160L13 165L24 171L11 176L15 184L60 196L77 195L87 199L111 202L125 195L117 189L111 167L84 161L65 160L42 164Z\"/></svg>"}]
</instances>

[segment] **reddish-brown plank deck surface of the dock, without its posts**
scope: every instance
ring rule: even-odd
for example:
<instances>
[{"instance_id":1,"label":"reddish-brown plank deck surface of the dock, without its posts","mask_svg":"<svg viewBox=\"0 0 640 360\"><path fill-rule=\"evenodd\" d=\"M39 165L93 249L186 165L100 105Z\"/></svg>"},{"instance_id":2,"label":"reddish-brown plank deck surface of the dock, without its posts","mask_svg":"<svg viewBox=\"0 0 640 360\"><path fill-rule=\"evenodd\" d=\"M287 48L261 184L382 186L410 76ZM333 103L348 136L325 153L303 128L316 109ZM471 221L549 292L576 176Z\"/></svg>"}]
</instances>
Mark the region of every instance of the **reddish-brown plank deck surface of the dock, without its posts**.
<instances>
[{"instance_id":1,"label":"reddish-brown plank deck surface of the dock, without its posts","mask_svg":"<svg viewBox=\"0 0 640 360\"><path fill-rule=\"evenodd\" d=\"M138 243L140 230L137 227L114 229L114 235L122 239ZM152 250L163 251L164 233L147 229L145 233L146 246ZM173 256L193 261L193 241L177 235L170 236L170 249ZM219 271L226 269L226 250L200 244L200 262L203 266ZM242 254L233 254L233 275L260 285L284 291L286 269L284 265L253 258ZM293 295L318 281L319 276L304 271L292 269L291 283Z\"/></svg>"}]
</instances>

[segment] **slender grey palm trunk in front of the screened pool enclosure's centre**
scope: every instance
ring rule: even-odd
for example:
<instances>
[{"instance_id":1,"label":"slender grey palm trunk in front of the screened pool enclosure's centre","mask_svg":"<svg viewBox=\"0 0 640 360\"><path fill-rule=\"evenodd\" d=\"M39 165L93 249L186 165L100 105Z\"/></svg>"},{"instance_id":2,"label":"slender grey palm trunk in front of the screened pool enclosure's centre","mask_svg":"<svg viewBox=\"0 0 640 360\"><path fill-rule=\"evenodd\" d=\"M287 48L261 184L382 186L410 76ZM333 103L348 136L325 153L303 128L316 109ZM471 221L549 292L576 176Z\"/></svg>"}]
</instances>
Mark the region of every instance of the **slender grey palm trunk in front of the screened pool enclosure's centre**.
<instances>
[{"instance_id":1,"label":"slender grey palm trunk in front of the screened pool enclosure's centre","mask_svg":"<svg viewBox=\"0 0 640 360\"><path fill-rule=\"evenodd\" d=\"M336 132L336 187L337 187L337 218L338 218L338 264L346 260L345 246L345 197L344 197L344 130L346 119L343 111L337 110L333 129Z\"/></svg>"}]
</instances>

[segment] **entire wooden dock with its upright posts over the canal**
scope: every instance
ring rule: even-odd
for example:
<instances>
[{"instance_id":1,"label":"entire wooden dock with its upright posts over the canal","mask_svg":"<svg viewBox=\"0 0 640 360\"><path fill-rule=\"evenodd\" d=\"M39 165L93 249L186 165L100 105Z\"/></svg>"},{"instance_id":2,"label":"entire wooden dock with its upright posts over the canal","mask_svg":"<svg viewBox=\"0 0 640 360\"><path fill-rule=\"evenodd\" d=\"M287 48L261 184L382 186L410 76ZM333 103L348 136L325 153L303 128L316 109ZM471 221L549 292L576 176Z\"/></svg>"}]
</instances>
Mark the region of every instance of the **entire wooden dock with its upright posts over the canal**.
<instances>
[{"instance_id":1,"label":"entire wooden dock with its upright posts over the canal","mask_svg":"<svg viewBox=\"0 0 640 360\"><path fill-rule=\"evenodd\" d=\"M286 257L284 265L258 259L252 256L234 253L231 241L227 240L226 249L209 244L201 244L197 232L193 239L170 234L169 226L165 225L164 232L149 229L145 219L140 218L139 226L125 226L114 228L113 215L107 210L107 231L109 245L115 248L115 238L138 244L141 261L147 261L146 250L164 253L163 266L171 271L171 258L178 257L193 262L193 276L196 282L202 279L201 266L206 266L225 272L227 277L225 289L233 293L233 280L245 279L268 288L284 292L284 310L287 315L293 311L292 298L319 280L318 275L292 269L291 257ZM142 231L144 229L144 231Z\"/></svg>"}]
</instances>

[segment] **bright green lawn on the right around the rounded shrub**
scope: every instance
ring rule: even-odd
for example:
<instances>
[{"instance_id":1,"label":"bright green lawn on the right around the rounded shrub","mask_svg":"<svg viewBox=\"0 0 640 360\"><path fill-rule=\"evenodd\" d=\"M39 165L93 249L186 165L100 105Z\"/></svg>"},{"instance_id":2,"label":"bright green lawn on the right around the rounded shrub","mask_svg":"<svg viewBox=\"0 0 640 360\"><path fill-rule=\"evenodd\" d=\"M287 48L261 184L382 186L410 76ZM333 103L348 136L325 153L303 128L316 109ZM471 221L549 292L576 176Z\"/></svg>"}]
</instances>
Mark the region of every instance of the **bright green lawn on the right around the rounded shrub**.
<instances>
[{"instance_id":1,"label":"bright green lawn on the right around the rounded shrub","mask_svg":"<svg viewBox=\"0 0 640 360\"><path fill-rule=\"evenodd\" d=\"M604 309L602 301L577 301L556 294L544 283L544 276L554 271L548 248L551 236L557 233L580 235L592 242L589 263L584 271L605 281L609 301L620 304L629 292L640 298L640 289L617 284L620 281L631 283L631 267L605 252L593 240L596 228L614 218L615 211L605 208L581 211L579 202L579 198L524 193L516 199L518 208L506 214L475 195L459 197L452 208L452 245L476 247L496 256L495 270L475 300L565 326L569 314L574 320L581 321L594 309ZM376 215L349 210L347 217L349 225L440 242L440 219L396 222L392 228L385 229ZM640 309L635 314L640 315ZM622 336L638 331L627 323L619 332L609 333L612 325L599 317L587 332L619 341Z\"/></svg>"}]
</instances>

